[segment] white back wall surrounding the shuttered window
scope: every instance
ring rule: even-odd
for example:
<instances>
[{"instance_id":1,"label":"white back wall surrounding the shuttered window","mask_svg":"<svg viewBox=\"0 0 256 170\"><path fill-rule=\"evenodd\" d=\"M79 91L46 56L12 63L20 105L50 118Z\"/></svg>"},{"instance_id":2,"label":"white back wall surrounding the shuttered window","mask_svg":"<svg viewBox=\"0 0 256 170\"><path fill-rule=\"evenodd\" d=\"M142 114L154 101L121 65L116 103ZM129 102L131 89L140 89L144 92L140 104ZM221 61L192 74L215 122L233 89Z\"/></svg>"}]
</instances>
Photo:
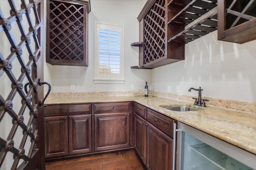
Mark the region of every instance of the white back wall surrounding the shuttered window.
<instances>
[{"instance_id":1,"label":"white back wall surrounding the shuttered window","mask_svg":"<svg viewBox=\"0 0 256 170\"><path fill-rule=\"evenodd\" d=\"M130 44L139 39L138 14L146 0L91 0L92 11L88 14L88 67L57 66L45 64L44 80L52 84L52 92L130 91L134 84L150 82L150 70L131 69L137 66L138 47ZM124 25L124 84L94 83L94 21ZM46 92L46 91L45 91Z\"/></svg>"}]
</instances>

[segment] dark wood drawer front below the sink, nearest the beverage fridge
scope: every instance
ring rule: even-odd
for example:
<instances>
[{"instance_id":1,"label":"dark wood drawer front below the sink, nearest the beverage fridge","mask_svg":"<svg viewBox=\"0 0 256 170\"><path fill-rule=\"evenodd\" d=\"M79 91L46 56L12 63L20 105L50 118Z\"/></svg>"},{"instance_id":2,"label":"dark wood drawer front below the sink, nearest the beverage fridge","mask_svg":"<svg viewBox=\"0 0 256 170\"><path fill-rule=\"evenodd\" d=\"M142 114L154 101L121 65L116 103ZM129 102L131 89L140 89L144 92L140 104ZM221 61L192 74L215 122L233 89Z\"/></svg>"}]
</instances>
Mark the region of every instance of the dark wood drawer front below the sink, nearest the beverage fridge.
<instances>
[{"instance_id":1,"label":"dark wood drawer front below the sink, nearest the beverage fridge","mask_svg":"<svg viewBox=\"0 0 256 170\"><path fill-rule=\"evenodd\" d=\"M174 119L161 115L156 111L147 109L147 121L158 128L160 131L166 133L166 135L173 136L173 123Z\"/></svg>"}]
</instances>

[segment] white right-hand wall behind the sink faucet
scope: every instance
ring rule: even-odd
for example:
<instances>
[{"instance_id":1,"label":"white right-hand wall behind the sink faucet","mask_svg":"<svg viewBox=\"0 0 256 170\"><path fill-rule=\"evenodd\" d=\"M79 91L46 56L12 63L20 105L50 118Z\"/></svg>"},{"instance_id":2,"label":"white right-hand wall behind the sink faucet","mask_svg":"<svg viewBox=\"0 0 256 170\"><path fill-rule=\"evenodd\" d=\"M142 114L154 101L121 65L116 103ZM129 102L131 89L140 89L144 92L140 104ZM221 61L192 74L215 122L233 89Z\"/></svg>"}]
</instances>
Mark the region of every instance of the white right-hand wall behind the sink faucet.
<instances>
[{"instance_id":1,"label":"white right-hand wall behind the sink faucet","mask_svg":"<svg viewBox=\"0 0 256 170\"><path fill-rule=\"evenodd\" d=\"M185 46L185 60L152 69L154 90L256 102L256 40L244 44L217 40L217 31Z\"/></svg>"}]
</instances>

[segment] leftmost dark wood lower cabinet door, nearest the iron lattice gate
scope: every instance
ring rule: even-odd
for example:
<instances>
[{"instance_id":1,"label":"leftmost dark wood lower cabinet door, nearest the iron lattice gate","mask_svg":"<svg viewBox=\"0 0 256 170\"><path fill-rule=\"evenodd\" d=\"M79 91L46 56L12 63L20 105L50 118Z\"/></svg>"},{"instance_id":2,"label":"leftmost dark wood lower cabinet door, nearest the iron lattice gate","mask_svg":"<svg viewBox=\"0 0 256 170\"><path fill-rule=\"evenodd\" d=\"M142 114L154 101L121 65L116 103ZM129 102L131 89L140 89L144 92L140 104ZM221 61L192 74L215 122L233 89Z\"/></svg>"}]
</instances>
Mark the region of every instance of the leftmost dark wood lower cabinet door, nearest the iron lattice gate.
<instances>
[{"instance_id":1,"label":"leftmost dark wood lower cabinet door, nearest the iron lattice gate","mask_svg":"<svg viewBox=\"0 0 256 170\"><path fill-rule=\"evenodd\" d=\"M68 117L52 116L44 118L46 158L68 154Z\"/></svg>"}]
</instances>

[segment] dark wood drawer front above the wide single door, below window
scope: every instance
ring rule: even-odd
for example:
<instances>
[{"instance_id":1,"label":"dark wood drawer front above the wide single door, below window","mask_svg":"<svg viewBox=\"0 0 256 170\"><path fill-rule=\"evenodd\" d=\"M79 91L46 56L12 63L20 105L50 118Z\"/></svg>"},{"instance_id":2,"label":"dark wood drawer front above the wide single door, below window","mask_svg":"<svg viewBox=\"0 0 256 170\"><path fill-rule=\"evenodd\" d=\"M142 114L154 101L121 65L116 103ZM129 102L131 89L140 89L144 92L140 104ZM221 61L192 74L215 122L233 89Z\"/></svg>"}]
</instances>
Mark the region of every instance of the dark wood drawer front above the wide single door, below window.
<instances>
[{"instance_id":1,"label":"dark wood drawer front above the wide single door, below window","mask_svg":"<svg viewBox=\"0 0 256 170\"><path fill-rule=\"evenodd\" d=\"M96 103L94 113L129 112L130 102Z\"/></svg>"}]
</instances>

